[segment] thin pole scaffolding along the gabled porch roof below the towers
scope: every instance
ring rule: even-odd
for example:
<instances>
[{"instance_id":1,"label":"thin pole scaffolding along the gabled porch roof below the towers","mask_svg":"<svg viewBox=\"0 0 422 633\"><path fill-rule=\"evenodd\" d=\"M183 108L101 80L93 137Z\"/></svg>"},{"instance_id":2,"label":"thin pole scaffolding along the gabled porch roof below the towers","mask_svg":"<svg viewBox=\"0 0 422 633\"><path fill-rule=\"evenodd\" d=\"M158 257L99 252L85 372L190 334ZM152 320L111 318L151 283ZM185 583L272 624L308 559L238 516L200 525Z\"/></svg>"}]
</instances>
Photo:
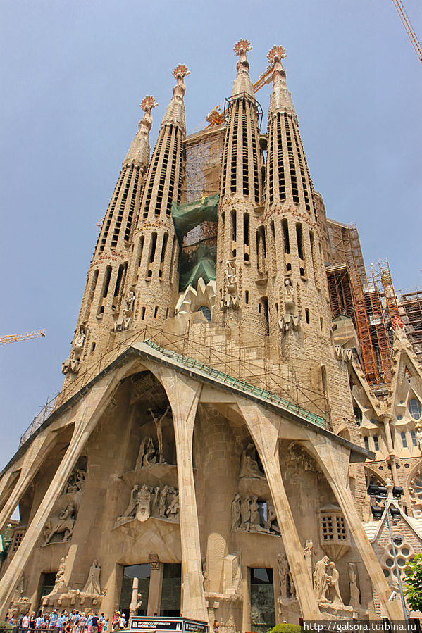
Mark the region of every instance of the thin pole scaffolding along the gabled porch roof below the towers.
<instances>
[{"instance_id":1,"label":"thin pole scaffolding along the gabled porch roof below the towers","mask_svg":"<svg viewBox=\"0 0 422 633\"><path fill-rule=\"evenodd\" d=\"M63 387L60 394L48 401L20 437L20 446L37 432L44 422L61 407L68 406L73 396L87 387L100 372L123 358L123 353L137 343L159 349L163 357L175 358L187 368L198 368L207 378L217 379L245 393L290 410L310 422L332 430L328 403L323 389L314 389L297 380L297 373L287 365L271 361L268 337L230 327L216 327L201 322L201 314L190 316L187 330L146 326L121 340L99 361L89 365ZM175 357L177 356L177 358ZM199 368L199 365L201 367ZM297 363L295 363L297 365ZM209 382L209 380L207 380Z\"/></svg>"}]
</instances>

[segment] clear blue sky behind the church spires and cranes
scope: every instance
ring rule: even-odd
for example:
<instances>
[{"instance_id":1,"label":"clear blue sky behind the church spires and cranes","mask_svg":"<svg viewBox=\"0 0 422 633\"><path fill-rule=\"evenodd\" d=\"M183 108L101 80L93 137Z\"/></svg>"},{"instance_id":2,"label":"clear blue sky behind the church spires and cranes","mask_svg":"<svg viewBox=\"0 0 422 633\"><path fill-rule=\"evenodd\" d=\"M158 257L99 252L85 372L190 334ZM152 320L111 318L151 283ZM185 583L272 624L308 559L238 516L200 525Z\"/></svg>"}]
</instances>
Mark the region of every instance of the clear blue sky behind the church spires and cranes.
<instances>
[{"instance_id":1,"label":"clear blue sky behind the church spires and cranes","mask_svg":"<svg viewBox=\"0 0 422 633\"><path fill-rule=\"evenodd\" d=\"M404 0L422 39L422 3ZM252 42L256 80L273 44L285 69L314 185L327 213L356 223L366 265L388 258L396 289L422 287L422 64L392 0L2 0L0 334L46 328L1 346L1 467L47 396L138 104L159 107L178 63L191 70L188 133L231 92L237 39ZM257 94L266 127L270 87Z\"/></svg>"}]
</instances>

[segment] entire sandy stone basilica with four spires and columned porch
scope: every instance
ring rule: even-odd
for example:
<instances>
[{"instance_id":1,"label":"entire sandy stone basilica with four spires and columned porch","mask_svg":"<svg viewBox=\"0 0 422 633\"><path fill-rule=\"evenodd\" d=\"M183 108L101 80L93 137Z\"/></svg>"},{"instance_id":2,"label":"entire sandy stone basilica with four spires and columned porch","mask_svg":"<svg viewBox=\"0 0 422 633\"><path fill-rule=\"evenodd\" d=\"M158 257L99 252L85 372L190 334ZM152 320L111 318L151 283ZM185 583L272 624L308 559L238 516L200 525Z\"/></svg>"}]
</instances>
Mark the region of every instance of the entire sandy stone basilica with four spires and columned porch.
<instances>
[{"instance_id":1,"label":"entire sandy stone basilica with four spires and columned porch","mask_svg":"<svg viewBox=\"0 0 422 633\"><path fill-rule=\"evenodd\" d=\"M142 101L63 391L0 475L0 529L20 511L0 615L404 618L387 513L402 575L422 551L418 349L389 292L374 311L356 230L326 218L285 50L264 133L249 49L190 136L175 68L152 155ZM403 494L371 512L370 483Z\"/></svg>"}]
</instances>

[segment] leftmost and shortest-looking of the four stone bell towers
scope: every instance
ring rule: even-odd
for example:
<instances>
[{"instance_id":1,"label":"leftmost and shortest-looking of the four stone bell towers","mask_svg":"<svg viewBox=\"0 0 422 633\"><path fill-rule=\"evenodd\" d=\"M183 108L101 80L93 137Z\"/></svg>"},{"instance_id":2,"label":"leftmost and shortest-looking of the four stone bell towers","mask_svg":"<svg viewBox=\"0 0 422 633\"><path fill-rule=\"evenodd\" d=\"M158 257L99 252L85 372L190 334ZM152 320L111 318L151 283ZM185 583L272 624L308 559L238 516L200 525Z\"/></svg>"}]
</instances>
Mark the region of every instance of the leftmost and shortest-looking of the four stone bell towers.
<instances>
[{"instance_id":1,"label":"leftmost and shortest-looking of the four stone bell towers","mask_svg":"<svg viewBox=\"0 0 422 633\"><path fill-rule=\"evenodd\" d=\"M124 328L125 319L128 319L122 303L132 234L149 164L151 110L156 105L153 96L146 96L140 105L144 118L139 122L104 215L88 270L70 357L63 363L62 370L68 378L79 372L81 363L94 361L104 354L110 332Z\"/></svg>"}]
</instances>

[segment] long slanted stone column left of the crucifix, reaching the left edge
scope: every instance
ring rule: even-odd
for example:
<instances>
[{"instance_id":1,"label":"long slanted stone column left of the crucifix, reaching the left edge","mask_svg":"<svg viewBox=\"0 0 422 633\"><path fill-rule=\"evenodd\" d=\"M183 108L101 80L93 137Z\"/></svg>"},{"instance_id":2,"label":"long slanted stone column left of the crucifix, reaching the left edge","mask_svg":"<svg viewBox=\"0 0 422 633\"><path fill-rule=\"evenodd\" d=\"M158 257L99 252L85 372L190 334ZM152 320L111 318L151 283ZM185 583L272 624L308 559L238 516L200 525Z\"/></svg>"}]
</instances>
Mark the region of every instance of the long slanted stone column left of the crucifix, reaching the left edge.
<instances>
[{"instance_id":1,"label":"long slanted stone column left of the crucifix, reaching the left edge","mask_svg":"<svg viewBox=\"0 0 422 633\"><path fill-rule=\"evenodd\" d=\"M89 434L91 434L94 425L99 418L99 409L104 394L110 388L110 379L104 379L98 386L93 387L85 399L75 410L75 429L68 449L66 450L63 460L59 465L56 475L46 491L42 503L39 505L37 513L30 522L25 536L13 556L11 564L8 566L4 577L1 579L0 585L0 617L6 613L8 601L11 593L18 582L18 579L25 570L27 561L30 558L32 550L42 534L45 522L53 509L58 497L61 494L63 486L66 484L70 473L72 472L77 459L85 446Z\"/></svg>"}]
</instances>

